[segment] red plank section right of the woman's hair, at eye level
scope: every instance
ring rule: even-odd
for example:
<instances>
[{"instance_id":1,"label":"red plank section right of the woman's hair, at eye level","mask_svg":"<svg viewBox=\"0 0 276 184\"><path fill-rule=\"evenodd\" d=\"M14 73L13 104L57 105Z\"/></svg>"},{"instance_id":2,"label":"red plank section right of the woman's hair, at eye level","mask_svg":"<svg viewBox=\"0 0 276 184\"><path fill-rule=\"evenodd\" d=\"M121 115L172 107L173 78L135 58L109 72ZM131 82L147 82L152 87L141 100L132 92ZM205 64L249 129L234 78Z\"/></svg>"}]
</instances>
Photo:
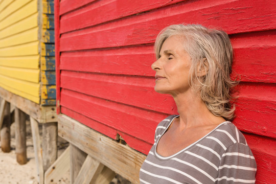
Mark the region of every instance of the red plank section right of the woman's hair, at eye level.
<instances>
[{"instance_id":1,"label":"red plank section right of the woman's hair, at eye level","mask_svg":"<svg viewBox=\"0 0 276 184\"><path fill-rule=\"evenodd\" d=\"M276 31L240 34L231 37L234 71L242 81L276 82Z\"/></svg>"}]
</instances>

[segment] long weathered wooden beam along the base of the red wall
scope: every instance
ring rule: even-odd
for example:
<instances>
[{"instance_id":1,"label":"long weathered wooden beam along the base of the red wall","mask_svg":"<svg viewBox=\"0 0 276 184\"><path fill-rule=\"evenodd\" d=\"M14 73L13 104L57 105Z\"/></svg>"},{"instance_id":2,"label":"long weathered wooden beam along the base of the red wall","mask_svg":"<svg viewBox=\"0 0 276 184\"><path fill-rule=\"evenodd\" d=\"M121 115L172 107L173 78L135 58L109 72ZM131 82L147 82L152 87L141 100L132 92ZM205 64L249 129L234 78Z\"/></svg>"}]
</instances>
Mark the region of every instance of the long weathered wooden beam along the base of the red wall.
<instances>
[{"instance_id":1,"label":"long weathered wooden beam along the base of the red wall","mask_svg":"<svg viewBox=\"0 0 276 184\"><path fill-rule=\"evenodd\" d=\"M122 177L139 183L139 170L146 156L65 115L59 116L59 135L93 156Z\"/></svg>"}]
</instances>

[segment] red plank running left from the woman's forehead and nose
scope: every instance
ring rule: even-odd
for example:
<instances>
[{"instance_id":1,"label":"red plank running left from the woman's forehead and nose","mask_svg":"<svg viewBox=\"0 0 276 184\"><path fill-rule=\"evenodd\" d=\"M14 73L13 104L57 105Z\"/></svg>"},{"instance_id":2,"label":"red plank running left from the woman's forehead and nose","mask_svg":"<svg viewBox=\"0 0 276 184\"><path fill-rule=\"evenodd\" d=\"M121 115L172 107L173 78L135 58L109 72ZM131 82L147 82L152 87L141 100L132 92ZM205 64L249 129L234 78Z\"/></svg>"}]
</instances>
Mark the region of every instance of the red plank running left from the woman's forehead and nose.
<instances>
[{"instance_id":1,"label":"red plank running left from the woman's forehead and nose","mask_svg":"<svg viewBox=\"0 0 276 184\"><path fill-rule=\"evenodd\" d=\"M151 64L153 45L87 52L65 52L60 56L61 70L106 74L154 76Z\"/></svg>"}]
</instances>

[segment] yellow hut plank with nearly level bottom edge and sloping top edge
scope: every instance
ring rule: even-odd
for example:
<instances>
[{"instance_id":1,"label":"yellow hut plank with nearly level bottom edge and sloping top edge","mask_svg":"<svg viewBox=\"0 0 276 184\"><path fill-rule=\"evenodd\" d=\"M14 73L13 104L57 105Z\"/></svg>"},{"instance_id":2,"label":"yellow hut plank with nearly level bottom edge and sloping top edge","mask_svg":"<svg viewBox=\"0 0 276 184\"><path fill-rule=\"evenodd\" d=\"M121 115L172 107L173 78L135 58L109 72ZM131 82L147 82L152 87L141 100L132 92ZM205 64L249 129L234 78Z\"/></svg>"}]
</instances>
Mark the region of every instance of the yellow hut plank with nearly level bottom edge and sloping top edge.
<instances>
[{"instance_id":1,"label":"yellow hut plank with nearly level bottom edge and sloping top edge","mask_svg":"<svg viewBox=\"0 0 276 184\"><path fill-rule=\"evenodd\" d=\"M0 57L28 56L28 55L37 55L37 54L38 54L38 41L0 49Z\"/></svg>"}]
</instances>

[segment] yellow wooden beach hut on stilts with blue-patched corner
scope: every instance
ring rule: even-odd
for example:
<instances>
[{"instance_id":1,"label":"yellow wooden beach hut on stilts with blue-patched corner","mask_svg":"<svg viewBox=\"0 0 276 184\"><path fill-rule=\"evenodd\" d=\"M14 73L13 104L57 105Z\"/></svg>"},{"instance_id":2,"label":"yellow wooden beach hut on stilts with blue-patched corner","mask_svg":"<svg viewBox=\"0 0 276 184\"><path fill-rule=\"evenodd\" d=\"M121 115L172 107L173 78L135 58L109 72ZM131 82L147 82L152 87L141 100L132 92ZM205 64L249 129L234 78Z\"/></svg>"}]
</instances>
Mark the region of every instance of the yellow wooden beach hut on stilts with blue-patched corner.
<instances>
[{"instance_id":1,"label":"yellow wooden beach hut on stilts with blue-patched corner","mask_svg":"<svg viewBox=\"0 0 276 184\"><path fill-rule=\"evenodd\" d=\"M25 113L30 116L34 141L37 143L35 148L40 162L40 177L43 167L48 168L57 157L54 48L53 1L0 1L0 117L4 119L4 123L0 121L1 134L3 137L9 136L10 120L4 116L10 116L11 103L15 107L17 162L25 164ZM44 166L38 123L43 123ZM3 137L2 148L6 145Z\"/></svg>"}]
</instances>

